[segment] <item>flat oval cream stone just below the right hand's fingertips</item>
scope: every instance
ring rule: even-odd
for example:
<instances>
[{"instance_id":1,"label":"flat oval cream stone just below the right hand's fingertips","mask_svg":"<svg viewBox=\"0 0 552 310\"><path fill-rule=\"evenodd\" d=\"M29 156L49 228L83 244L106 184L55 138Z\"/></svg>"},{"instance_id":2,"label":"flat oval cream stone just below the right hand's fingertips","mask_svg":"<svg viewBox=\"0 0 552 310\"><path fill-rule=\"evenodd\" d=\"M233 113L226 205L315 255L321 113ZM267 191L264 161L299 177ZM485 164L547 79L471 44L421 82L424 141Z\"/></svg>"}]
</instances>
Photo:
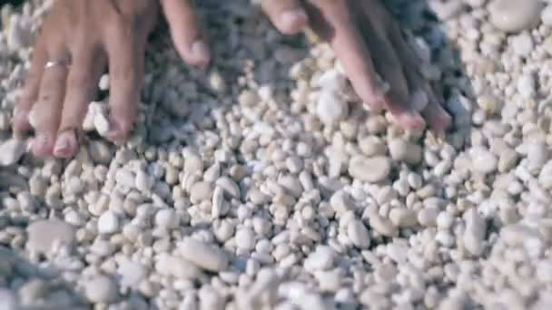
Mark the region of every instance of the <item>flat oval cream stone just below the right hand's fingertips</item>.
<instances>
[{"instance_id":1,"label":"flat oval cream stone just below the right hand's fingertips","mask_svg":"<svg viewBox=\"0 0 552 310\"><path fill-rule=\"evenodd\" d=\"M355 156L349 163L350 176L367 182L380 182L387 179L390 170L391 160L384 156L372 158Z\"/></svg>"}]
</instances>

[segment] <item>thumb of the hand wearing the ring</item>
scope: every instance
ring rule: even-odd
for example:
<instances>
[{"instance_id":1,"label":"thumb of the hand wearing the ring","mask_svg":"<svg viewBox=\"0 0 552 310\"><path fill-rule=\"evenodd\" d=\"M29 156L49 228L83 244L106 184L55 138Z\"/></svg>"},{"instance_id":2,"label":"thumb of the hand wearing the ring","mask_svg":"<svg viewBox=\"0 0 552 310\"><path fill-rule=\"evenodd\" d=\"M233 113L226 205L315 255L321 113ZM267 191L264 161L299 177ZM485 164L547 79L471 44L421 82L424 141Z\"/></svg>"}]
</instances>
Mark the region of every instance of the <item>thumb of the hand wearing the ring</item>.
<instances>
[{"instance_id":1,"label":"thumb of the hand wearing the ring","mask_svg":"<svg viewBox=\"0 0 552 310\"><path fill-rule=\"evenodd\" d=\"M206 66L211 52L199 28L199 19L189 0L162 0L163 12L171 28L173 43L187 63Z\"/></svg>"}]
</instances>

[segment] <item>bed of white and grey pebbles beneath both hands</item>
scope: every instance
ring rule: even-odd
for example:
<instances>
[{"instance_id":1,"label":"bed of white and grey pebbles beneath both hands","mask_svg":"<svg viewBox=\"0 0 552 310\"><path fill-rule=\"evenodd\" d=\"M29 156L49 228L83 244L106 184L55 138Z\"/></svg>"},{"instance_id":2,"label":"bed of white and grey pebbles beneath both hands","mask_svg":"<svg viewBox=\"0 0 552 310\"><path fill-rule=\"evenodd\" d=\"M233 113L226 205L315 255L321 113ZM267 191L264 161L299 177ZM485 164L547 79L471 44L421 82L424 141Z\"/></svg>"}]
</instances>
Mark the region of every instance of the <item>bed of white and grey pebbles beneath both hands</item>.
<instances>
[{"instance_id":1,"label":"bed of white and grey pebbles beneath both hands","mask_svg":"<svg viewBox=\"0 0 552 310\"><path fill-rule=\"evenodd\" d=\"M202 8L207 73L157 34L131 140L96 134L99 99L73 160L10 138L45 7L4 6L0 309L552 308L552 4L394 4L444 140L365 111L326 44L236 0Z\"/></svg>"}]
</instances>

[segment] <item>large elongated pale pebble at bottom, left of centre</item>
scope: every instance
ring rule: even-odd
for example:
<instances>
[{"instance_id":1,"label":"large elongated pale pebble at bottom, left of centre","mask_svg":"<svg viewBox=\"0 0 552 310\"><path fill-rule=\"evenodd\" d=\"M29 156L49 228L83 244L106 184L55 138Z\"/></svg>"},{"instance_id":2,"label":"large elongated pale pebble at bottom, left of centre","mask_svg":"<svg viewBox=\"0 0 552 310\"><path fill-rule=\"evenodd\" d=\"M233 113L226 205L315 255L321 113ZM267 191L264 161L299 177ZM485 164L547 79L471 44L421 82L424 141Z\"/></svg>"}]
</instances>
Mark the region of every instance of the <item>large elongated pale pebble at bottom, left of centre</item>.
<instances>
[{"instance_id":1,"label":"large elongated pale pebble at bottom, left of centre","mask_svg":"<svg viewBox=\"0 0 552 310\"><path fill-rule=\"evenodd\" d=\"M205 270L218 272L228 266L229 257L219 247L185 237L178 244L182 257Z\"/></svg>"}]
</instances>

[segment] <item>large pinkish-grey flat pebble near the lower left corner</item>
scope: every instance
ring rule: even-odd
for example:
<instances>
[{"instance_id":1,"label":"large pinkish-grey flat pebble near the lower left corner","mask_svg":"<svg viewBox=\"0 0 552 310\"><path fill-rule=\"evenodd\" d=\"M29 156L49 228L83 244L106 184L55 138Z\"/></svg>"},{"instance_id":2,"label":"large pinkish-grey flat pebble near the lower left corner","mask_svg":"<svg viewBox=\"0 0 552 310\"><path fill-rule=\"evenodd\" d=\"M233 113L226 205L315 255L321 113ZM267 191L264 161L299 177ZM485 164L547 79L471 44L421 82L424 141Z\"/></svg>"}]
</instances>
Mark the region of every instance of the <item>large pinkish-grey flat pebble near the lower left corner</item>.
<instances>
[{"instance_id":1,"label":"large pinkish-grey flat pebble near the lower left corner","mask_svg":"<svg viewBox=\"0 0 552 310\"><path fill-rule=\"evenodd\" d=\"M62 220L38 220L27 227L27 247L49 253L54 244L73 246L74 228Z\"/></svg>"}]
</instances>

